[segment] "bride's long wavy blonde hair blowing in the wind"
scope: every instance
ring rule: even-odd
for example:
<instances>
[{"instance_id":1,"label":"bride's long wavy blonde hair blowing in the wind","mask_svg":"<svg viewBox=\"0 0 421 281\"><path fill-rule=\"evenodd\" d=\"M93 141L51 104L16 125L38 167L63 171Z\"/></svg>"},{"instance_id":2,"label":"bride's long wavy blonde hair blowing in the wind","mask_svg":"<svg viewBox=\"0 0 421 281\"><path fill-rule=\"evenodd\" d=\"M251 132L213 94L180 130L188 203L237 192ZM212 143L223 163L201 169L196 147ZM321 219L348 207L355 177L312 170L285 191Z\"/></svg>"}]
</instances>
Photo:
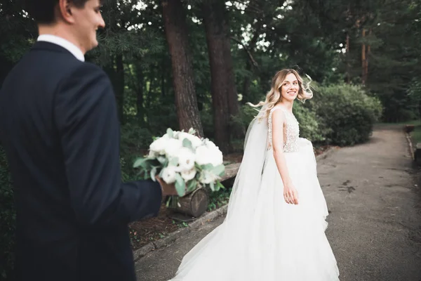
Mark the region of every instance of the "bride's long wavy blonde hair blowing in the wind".
<instances>
[{"instance_id":1,"label":"bride's long wavy blonde hair blowing in the wind","mask_svg":"<svg viewBox=\"0 0 421 281\"><path fill-rule=\"evenodd\" d=\"M272 110L272 108L274 108L274 106L282 100L281 88L283 82L286 79L286 76L290 73L293 73L295 77L297 77L298 86L300 87L300 89L298 90L297 99L304 103L305 100L309 100L313 97L313 92L309 86L312 79L308 75L306 76L309 79L309 81L305 82L296 70L279 70L279 72L276 72L275 76L272 78L272 88L267 93L266 100L261 101L257 105L253 105L253 103L248 103L248 105L251 105L252 107L264 107L262 108L262 112L260 112L260 115L258 116L259 119L267 118L269 116L270 110Z\"/></svg>"}]
</instances>

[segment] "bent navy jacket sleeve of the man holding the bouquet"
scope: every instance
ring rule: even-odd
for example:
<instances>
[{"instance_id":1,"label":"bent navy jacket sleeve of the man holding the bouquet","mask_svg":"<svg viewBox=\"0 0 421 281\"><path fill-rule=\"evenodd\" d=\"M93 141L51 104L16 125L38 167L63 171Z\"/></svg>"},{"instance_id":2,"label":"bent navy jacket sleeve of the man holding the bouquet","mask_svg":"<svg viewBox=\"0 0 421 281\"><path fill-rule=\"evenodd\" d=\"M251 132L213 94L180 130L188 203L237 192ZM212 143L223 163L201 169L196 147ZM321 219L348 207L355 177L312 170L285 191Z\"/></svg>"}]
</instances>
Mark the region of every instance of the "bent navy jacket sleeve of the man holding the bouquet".
<instances>
[{"instance_id":1,"label":"bent navy jacket sleeve of the man holding the bouquet","mask_svg":"<svg viewBox=\"0 0 421 281\"><path fill-rule=\"evenodd\" d=\"M62 81L54 116L79 223L116 226L158 214L159 183L121 183L119 121L105 72L84 63Z\"/></svg>"}]
</instances>

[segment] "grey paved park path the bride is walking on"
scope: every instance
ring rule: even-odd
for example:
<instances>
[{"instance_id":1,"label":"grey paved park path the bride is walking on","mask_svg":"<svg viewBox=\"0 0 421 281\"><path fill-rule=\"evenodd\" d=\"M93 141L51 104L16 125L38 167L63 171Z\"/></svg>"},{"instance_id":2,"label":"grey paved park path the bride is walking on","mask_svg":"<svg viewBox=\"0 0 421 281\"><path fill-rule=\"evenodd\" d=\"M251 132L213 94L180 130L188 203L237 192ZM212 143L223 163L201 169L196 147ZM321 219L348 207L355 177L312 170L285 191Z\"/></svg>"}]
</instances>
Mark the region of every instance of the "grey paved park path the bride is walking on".
<instances>
[{"instance_id":1,"label":"grey paved park path the bride is walking on","mask_svg":"<svg viewBox=\"0 0 421 281\"><path fill-rule=\"evenodd\" d=\"M328 153L318 172L340 280L421 281L421 187L401 127L379 126L368 143ZM138 260L138 281L170 279L182 256L222 221Z\"/></svg>"}]
</instances>

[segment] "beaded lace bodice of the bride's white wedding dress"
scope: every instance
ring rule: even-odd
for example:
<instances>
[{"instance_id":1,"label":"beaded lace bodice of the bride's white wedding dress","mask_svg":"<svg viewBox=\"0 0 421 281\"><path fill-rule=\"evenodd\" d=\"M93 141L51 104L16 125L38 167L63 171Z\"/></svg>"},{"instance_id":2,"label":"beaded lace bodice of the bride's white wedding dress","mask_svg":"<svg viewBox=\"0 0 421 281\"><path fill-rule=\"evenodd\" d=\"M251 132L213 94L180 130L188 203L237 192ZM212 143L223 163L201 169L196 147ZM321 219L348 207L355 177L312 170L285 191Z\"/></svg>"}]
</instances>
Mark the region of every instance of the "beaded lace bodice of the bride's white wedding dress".
<instances>
[{"instance_id":1,"label":"beaded lace bodice of the bride's white wedding dress","mask_svg":"<svg viewBox=\"0 0 421 281\"><path fill-rule=\"evenodd\" d=\"M296 152L298 151L298 140L300 138L300 127L298 126L298 121L295 116L284 110L281 107L272 108L269 112L268 125L269 125L269 148L272 148L272 112L274 110L282 110L286 119L286 126L284 126L284 138L283 138L283 152Z\"/></svg>"}]
</instances>

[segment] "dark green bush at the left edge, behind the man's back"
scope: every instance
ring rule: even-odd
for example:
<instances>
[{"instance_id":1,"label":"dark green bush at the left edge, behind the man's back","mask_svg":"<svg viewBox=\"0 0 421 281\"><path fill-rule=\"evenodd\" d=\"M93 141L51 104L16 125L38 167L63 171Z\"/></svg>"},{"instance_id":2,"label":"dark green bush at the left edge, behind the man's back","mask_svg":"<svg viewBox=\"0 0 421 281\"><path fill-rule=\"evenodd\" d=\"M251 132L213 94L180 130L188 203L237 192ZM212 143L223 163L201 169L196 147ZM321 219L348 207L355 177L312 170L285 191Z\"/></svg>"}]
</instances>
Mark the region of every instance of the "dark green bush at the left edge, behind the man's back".
<instances>
[{"instance_id":1,"label":"dark green bush at the left edge, behind the man's back","mask_svg":"<svg viewBox=\"0 0 421 281\"><path fill-rule=\"evenodd\" d=\"M0 279L12 280L15 260L15 205L6 155L1 145L0 206Z\"/></svg>"}]
</instances>

